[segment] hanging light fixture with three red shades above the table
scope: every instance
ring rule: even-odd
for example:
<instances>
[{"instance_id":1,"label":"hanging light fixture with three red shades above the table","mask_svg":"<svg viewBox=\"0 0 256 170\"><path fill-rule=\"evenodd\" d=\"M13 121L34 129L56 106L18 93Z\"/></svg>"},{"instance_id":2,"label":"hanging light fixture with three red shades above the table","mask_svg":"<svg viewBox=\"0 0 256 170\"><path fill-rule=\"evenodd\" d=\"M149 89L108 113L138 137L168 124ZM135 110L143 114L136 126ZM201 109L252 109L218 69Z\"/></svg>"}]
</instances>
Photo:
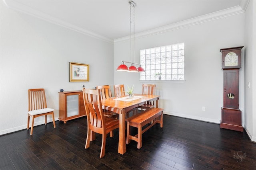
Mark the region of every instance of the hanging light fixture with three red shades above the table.
<instances>
[{"instance_id":1,"label":"hanging light fixture with three red shades above the table","mask_svg":"<svg viewBox=\"0 0 256 170\"><path fill-rule=\"evenodd\" d=\"M134 11L134 9L135 9L135 6L136 6L136 4L131 0L131 1L129 1L129 4L130 4L130 33L131 33L131 35L130 35L130 44L131 44L131 49L130 49L130 55L131 55L131 58L132 58L132 7L133 7L133 61L135 60L135 50L134 50L134 47L135 47L135 45L134 45L134 42L135 42L135 36L134 36L134 34L135 34L135 11ZM131 64L131 66L128 68L128 66L126 66L124 63L130 63ZM137 64L137 65L139 65L139 67L138 68L136 68L136 66L134 66L134 64ZM141 67L141 65L140 64L138 64L138 63L132 63L132 62L128 62L128 61L122 61L122 64L120 65L120 66L118 66L118 68L116 69L117 71L128 71L128 72L144 72L145 70L144 70L144 68L142 68Z\"/></svg>"}]
</instances>

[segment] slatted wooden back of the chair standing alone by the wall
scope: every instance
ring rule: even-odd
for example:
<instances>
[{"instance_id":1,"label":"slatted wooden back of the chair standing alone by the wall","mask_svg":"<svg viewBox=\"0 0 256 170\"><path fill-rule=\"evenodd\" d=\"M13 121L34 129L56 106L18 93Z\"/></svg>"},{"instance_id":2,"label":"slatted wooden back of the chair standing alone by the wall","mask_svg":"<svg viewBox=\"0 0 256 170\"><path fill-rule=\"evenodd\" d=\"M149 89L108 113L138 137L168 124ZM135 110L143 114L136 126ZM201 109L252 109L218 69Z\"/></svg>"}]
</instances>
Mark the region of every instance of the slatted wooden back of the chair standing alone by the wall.
<instances>
[{"instance_id":1,"label":"slatted wooden back of the chair standing alone by the wall","mask_svg":"<svg viewBox=\"0 0 256 170\"><path fill-rule=\"evenodd\" d=\"M43 88L28 90L28 111L47 108Z\"/></svg>"}]
</instances>

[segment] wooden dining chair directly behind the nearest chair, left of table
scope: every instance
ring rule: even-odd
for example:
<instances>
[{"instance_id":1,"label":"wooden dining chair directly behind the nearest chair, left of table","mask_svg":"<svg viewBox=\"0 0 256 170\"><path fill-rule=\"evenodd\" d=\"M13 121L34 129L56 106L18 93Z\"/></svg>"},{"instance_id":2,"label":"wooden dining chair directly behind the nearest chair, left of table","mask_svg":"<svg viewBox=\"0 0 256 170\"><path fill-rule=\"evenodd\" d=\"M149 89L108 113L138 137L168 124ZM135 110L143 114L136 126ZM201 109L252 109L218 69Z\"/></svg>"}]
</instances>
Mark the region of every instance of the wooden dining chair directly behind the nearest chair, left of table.
<instances>
[{"instance_id":1,"label":"wooden dining chair directly behind the nearest chair, left of table","mask_svg":"<svg viewBox=\"0 0 256 170\"><path fill-rule=\"evenodd\" d=\"M110 85L96 86L96 90L98 89L100 90L100 95L102 100L112 97ZM112 118L119 117L118 113L114 113L113 111L109 111L109 110L103 110L103 111L104 111L104 115L107 117L112 117Z\"/></svg>"}]
</instances>

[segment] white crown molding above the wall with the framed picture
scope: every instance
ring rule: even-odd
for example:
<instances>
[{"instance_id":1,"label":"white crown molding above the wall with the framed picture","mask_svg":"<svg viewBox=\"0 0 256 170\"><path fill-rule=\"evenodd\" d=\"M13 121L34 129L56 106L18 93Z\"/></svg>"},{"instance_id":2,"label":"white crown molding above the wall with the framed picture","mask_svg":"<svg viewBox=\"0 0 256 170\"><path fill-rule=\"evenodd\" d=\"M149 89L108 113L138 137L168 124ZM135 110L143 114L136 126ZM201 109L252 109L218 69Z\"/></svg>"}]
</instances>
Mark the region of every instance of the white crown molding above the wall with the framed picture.
<instances>
[{"instance_id":1,"label":"white crown molding above the wall with the framed picture","mask_svg":"<svg viewBox=\"0 0 256 170\"><path fill-rule=\"evenodd\" d=\"M45 14L43 12L40 12L40 11L35 10L33 8L30 8L29 6L21 4L21 3L17 2L17 1L15 1L15 0L3 0L3 1L4 1L4 4L6 4L6 6L8 8L11 8L13 10L17 10L19 12L23 12L25 14L34 16L36 18L40 18L42 20L54 23L56 25L60 25L62 27L66 27L66 28L71 29L73 31L77 31L77 32L82 33L84 35L88 35L90 37L94 37L96 39L100 39L100 40L106 41L108 43L113 43L113 39L104 37L102 35L99 35L97 33L92 32L92 31L88 31L86 29L82 29L82 28L77 27L75 25L72 25L72 24L70 24L68 22L62 21L62 20L60 20L58 18L52 17L52 16L50 16L48 14Z\"/></svg>"}]
</instances>

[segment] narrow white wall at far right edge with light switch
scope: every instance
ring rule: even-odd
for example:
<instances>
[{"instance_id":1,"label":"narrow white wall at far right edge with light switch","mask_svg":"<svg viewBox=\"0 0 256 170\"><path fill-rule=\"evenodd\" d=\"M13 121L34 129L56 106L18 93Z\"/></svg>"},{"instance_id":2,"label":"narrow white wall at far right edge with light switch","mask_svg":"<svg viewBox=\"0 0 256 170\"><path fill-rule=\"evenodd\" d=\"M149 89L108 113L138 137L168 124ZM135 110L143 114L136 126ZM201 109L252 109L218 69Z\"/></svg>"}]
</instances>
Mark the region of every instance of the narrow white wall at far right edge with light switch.
<instances>
[{"instance_id":1,"label":"narrow white wall at far right edge with light switch","mask_svg":"<svg viewBox=\"0 0 256 170\"><path fill-rule=\"evenodd\" d=\"M245 13L244 94L245 126L252 141L256 141L256 1L251 0ZM250 88L248 83L250 82Z\"/></svg>"}]
</instances>

